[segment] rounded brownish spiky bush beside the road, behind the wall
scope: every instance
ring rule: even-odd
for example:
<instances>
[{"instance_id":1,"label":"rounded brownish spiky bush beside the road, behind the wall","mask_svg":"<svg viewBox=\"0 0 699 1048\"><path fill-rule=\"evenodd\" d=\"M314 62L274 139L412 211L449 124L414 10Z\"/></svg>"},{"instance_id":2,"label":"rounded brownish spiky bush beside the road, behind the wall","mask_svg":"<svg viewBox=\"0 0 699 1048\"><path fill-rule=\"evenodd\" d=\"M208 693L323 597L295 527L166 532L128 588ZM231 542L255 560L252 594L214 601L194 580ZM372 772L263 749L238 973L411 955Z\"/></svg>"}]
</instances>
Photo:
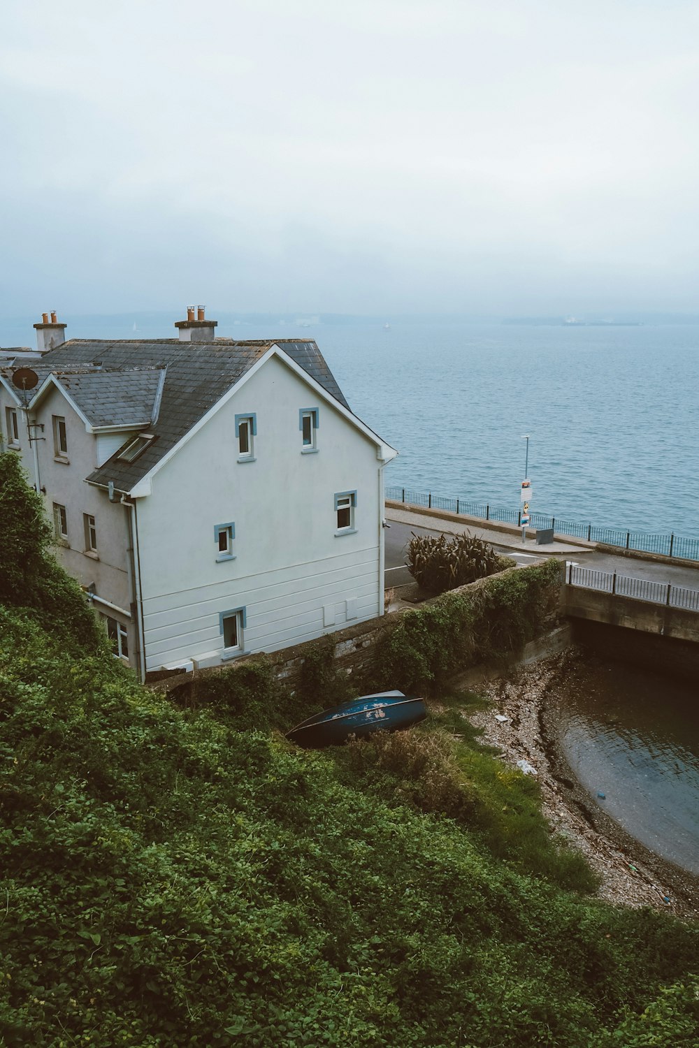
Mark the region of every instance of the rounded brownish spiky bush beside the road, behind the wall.
<instances>
[{"instance_id":1,"label":"rounded brownish spiky bush beside the road, behind the wall","mask_svg":"<svg viewBox=\"0 0 699 1048\"><path fill-rule=\"evenodd\" d=\"M477 578L512 567L488 542L464 532L447 539L415 534L408 547L408 570L424 589L434 593L465 586Z\"/></svg>"}]
</instances>

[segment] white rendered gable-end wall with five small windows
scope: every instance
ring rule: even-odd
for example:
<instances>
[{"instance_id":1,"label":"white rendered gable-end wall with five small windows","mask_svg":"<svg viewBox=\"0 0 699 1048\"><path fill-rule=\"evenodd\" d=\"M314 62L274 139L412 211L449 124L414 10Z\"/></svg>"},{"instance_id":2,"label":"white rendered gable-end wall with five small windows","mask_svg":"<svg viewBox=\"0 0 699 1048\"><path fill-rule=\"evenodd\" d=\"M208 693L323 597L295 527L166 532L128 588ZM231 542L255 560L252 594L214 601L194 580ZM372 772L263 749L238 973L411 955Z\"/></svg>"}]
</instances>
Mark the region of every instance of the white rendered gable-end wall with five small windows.
<instances>
[{"instance_id":1,"label":"white rendered gable-end wall with five small windows","mask_svg":"<svg viewBox=\"0 0 699 1048\"><path fill-rule=\"evenodd\" d=\"M308 408L320 410L315 454L302 454L299 410ZM240 463L235 416L253 413L256 461ZM380 614L380 481L376 445L269 359L138 499L147 670L218 664L219 614L241 607L245 653ZM350 490L356 531L336 537L334 495ZM217 563L214 527L230 522L236 559Z\"/></svg>"}]
</instances>

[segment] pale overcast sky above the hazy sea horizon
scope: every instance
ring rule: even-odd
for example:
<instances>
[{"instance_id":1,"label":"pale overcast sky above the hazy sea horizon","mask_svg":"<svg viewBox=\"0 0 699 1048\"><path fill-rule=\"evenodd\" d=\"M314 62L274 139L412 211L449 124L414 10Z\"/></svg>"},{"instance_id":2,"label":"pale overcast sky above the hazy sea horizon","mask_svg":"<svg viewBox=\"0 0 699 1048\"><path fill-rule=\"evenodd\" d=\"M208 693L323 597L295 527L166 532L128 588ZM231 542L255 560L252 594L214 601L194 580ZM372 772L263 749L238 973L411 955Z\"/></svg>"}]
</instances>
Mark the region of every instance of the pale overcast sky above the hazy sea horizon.
<instances>
[{"instance_id":1,"label":"pale overcast sky above the hazy sea horizon","mask_svg":"<svg viewBox=\"0 0 699 1048\"><path fill-rule=\"evenodd\" d=\"M695 0L4 0L0 302L699 310Z\"/></svg>"}]
</instances>

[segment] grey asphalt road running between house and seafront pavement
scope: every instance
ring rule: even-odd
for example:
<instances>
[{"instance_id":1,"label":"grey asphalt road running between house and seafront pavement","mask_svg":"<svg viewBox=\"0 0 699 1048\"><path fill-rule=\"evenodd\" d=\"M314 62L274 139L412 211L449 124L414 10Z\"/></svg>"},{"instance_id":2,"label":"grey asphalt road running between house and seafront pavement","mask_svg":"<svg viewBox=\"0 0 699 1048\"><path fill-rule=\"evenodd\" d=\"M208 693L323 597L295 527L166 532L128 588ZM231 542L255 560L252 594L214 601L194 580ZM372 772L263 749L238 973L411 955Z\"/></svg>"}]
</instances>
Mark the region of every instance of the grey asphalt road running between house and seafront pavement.
<instances>
[{"instance_id":1,"label":"grey asphalt road running between house and seafront pavement","mask_svg":"<svg viewBox=\"0 0 699 1048\"><path fill-rule=\"evenodd\" d=\"M385 530L386 540L386 586L403 586L413 582L413 576L405 566L408 544L411 534L440 534L441 531L450 533L453 525L450 521L444 521L442 529L439 527L416 527L412 524L402 524L387 518L390 528ZM529 552L523 552L512 548L517 540L507 546L494 543L495 548L503 556L511 556L519 564L527 564L546 555L545 547L534 546L529 540ZM533 552L533 550L537 552ZM597 568L599 571L616 571L620 575L629 575L632 578L649 578L653 582L672 583L673 586L684 586L687 589L699 590L699 569L693 567L679 566L674 564L662 564L656 561L642 561L636 558L615 556L612 553L604 553L599 550L581 549L580 554L569 553L566 560L573 564L580 564L586 568Z\"/></svg>"}]
</instances>

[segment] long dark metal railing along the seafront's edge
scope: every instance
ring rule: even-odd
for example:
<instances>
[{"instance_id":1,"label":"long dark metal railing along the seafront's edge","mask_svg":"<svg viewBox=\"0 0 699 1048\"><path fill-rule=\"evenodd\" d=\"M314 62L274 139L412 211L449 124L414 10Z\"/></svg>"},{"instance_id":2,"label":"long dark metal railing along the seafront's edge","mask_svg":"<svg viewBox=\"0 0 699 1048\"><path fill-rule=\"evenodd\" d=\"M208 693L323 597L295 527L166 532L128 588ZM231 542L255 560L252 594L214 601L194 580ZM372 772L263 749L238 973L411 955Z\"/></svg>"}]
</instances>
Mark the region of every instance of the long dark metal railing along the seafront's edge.
<instances>
[{"instance_id":1,"label":"long dark metal railing along the seafront's edge","mask_svg":"<svg viewBox=\"0 0 699 1048\"><path fill-rule=\"evenodd\" d=\"M386 498L397 502L409 502L414 506L425 506L429 509L445 509L452 514L463 514L464 517L478 517L484 521L522 526L521 510L494 506L489 502L450 499L442 495L433 495L431 492L425 495L424 492L412 492L407 487L387 487ZM569 536L574 539L586 539L588 542L598 542L605 546L620 546L622 549L636 549L643 553L662 553L685 561L699 561L699 539L685 539L678 534L624 531L618 528L563 520L560 517L547 517L545 514L530 514L529 526L552 527L556 534L564 538Z\"/></svg>"}]
</instances>

